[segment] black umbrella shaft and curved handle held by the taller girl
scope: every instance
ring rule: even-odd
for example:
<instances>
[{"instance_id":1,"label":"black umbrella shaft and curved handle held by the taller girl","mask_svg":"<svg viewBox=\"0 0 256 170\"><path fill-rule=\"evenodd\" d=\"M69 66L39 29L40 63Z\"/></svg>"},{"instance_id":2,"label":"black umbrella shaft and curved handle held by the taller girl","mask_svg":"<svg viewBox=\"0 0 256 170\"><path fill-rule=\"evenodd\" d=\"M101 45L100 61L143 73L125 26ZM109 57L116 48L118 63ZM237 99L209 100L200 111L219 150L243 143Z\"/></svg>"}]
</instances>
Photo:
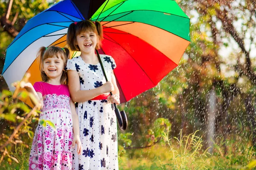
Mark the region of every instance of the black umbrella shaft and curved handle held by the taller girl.
<instances>
[{"instance_id":1,"label":"black umbrella shaft and curved handle held by the taller girl","mask_svg":"<svg viewBox=\"0 0 256 170\"><path fill-rule=\"evenodd\" d=\"M105 70L104 70L104 67L102 65L102 61L100 59L100 56L99 56L99 51L97 49L96 50L96 53L97 53L97 57L99 59L99 63L100 63L100 66L102 68L102 72L104 74L104 77L106 79L106 82L108 82L108 77L105 73ZM112 92L110 92L110 94L112 95ZM127 128L127 125L128 125L128 121L127 121L127 116L125 114L125 111L119 111L119 109L116 107L116 103L113 104L114 105L114 108L115 108L115 113L116 113L116 119L117 119L117 122L118 122L118 125L120 127L121 130L125 130Z\"/></svg>"}]
</instances>

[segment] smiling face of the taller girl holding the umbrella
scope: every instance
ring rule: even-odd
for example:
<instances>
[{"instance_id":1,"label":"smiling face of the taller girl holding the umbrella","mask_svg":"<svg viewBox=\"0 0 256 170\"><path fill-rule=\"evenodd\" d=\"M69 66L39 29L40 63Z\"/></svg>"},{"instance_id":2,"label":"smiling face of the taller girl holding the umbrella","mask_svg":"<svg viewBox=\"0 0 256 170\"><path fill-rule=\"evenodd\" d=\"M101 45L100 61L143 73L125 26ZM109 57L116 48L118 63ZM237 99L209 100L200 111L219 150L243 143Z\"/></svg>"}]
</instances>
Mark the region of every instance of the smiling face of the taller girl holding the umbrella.
<instances>
[{"instance_id":1,"label":"smiling face of the taller girl holding the umbrella","mask_svg":"<svg viewBox=\"0 0 256 170\"><path fill-rule=\"evenodd\" d=\"M76 36L76 45L79 46L82 53L94 52L98 42L99 36L93 31L85 31Z\"/></svg>"}]
</instances>

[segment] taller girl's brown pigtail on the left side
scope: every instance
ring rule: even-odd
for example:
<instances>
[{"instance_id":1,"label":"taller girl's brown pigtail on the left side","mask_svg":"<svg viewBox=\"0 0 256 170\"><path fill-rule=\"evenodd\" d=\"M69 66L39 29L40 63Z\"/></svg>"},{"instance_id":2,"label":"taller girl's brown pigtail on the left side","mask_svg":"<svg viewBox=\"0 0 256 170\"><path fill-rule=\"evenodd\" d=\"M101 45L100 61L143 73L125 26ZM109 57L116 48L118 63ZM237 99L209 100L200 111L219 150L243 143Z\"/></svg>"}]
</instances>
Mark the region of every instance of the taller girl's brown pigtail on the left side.
<instances>
[{"instance_id":1,"label":"taller girl's brown pigtail on the left side","mask_svg":"<svg viewBox=\"0 0 256 170\"><path fill-rule=\"evenodd\" d=\"M67 29L67 45L70 47L72 51L80 51L78 45L76 43L76 24L71 23Z\"/></svg>"}]
</instances>

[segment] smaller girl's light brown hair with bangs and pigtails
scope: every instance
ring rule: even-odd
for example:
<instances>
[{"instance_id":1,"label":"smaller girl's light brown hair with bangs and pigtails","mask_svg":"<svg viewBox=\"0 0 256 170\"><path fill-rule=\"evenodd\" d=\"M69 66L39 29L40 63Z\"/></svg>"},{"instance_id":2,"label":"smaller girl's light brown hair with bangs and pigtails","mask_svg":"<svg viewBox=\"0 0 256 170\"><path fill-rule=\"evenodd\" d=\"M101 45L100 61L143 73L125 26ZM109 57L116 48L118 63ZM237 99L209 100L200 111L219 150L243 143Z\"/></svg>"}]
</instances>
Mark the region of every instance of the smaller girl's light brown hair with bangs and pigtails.
<instances>
[{"instance_id":1,"label":"smaller girl's light brown hair with bangs and pigtails","mask_svg":"<svg viewBox=\"0 0 256 170\"><path fill-rule=\"evenodd\" d=\"M64 62L64 68L65 68L65 66L67 64L67 59L69 59L69 56L70 56L70 51L68 48L59 48L56 46L49 46L48 48L46 48L46 47L39 48L37 57L39 59L39 69L41 72L41 78L42 78L43 82L49 81L49 78L43 71L44 60L47 58L53 58L53 57L59 58L58 54L60 54L61 59ZM62 71L61 84L67 84L67 71Z\"/></svg>"}]
</instances>

